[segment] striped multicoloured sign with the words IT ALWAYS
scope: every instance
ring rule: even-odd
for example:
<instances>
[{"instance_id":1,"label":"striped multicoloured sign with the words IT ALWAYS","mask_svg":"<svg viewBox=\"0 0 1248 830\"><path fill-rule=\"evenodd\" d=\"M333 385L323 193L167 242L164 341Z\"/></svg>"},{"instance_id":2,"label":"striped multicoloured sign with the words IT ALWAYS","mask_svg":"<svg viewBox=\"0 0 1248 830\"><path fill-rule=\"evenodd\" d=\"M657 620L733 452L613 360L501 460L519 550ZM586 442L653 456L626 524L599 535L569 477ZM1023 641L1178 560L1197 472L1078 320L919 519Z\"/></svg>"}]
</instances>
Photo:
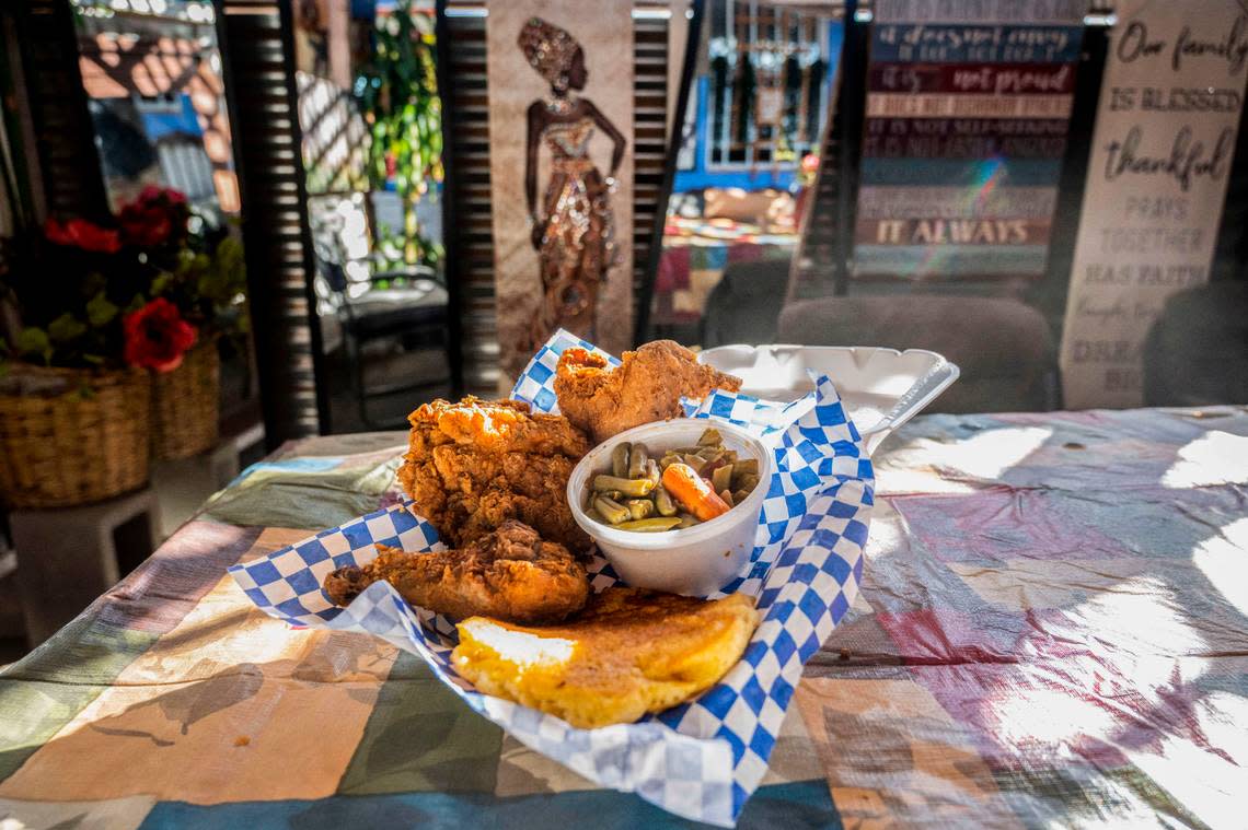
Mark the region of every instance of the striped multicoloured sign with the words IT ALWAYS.
<instances>
[{"instance_id":1,"label":"striped multicoloured sign with the words IT ALWAYS","mask_svg":"<svg viewBox=\"0 0 1248 830\"><path fill-rule=\"evenodd\" d=\"M1038 277L1086 2L880 0L856 277Z\"/></svg>"}]
</instances>

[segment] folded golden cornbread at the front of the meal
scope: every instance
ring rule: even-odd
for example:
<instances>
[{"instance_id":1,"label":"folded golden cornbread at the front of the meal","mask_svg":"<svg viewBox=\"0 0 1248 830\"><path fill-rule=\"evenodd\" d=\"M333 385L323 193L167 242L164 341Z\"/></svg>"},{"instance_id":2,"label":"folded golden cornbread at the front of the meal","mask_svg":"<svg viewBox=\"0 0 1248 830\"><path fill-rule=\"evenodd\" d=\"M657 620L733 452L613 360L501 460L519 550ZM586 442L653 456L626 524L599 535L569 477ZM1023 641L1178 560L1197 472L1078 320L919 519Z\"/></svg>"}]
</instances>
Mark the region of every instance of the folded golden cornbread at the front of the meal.
<instances>
[{"instance_id":1,"label":"folded golden cornbread at the front of the meal","mask_svg":"<svg viewBox=\"0 0 1248 830\"><path fill-rule=\"evenodd\" d=\"M480 692L593 729L631 723L715 684L759 624L743 594L696 599L608 588L559 626L459 623L456 670Z\"/></svg>"}]
</instances>

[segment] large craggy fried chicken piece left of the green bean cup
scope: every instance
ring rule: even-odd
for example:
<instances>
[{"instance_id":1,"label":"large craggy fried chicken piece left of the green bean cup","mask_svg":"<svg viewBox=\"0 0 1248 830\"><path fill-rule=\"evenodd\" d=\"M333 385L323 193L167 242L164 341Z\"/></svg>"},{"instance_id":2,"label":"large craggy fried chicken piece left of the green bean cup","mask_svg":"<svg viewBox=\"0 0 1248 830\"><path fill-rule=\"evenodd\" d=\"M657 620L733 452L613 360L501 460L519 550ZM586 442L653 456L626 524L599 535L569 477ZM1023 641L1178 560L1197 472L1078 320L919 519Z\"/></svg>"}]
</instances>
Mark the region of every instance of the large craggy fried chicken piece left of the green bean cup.
<instances>
[{"instance_id":1,"label":"large craggy fried chicken piece left of the green bean cup","mask_svg":"<svg viewBox=\"0 0 1248 830\"><path fill-rule=\"evenodd\" d=\"M508 518L575 553L590 540L572 517L568 476L589 445L560 415L519 401L437 400L408 419L398 481L442 540L461 547Z\"/></svg>"}]
</instances>

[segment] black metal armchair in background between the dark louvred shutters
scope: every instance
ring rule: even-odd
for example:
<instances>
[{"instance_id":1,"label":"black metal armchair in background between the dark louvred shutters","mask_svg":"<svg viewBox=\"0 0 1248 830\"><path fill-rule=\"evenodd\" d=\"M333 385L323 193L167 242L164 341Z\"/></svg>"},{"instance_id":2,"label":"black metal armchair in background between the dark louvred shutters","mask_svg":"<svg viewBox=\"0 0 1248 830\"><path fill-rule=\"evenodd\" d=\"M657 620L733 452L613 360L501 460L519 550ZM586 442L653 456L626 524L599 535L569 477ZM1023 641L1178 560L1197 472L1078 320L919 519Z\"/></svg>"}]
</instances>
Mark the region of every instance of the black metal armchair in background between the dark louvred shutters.
<instances>
[{"instance_id":1,"label":"black metal armchair in background between the dark louvred shutters","mask_svg":"<svg viewBox=\"0 0 1248 830\"><path fill-rule=\"evenodd\" d=\"M317 257L317 268L336 297L337 319L342 330L347 360L351 364L352 390L359 419L373 429L392 426L374 421L368 401L404 391L452 386L456 378L451 356L449 307L447 287L427 265L401 270L373 272L367 282L352 282L342 264ZM367 285L367 288L363 288ZM404 349L438 346L447 355L447 373L436 378L398 380L367 386L364 346L376 340L398 339Z\"/></svg>"}]
</instances>

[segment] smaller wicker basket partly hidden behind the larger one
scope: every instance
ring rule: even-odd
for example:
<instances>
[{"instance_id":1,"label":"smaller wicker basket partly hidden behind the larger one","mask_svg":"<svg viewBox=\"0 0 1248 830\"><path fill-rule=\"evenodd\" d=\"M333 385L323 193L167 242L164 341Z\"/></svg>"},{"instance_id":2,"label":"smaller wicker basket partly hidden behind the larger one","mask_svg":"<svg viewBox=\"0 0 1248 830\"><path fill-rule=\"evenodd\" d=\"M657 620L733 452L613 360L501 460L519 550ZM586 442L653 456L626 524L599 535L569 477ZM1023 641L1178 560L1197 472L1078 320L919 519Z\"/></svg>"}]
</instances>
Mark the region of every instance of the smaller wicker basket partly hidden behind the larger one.
<instances>
[{"instance_id":1,"label":"smaller wicker basket partly hidden behind the larger one","mask_svg":"<svg viewBox=\"0 0 1248 830\"><path fill-rule=\"evenodd\" d=\"M188 459L216 446L220 389L216 339L187 351L173 371L152 374L154 459Z\"/></svg>"}]
</instances>

